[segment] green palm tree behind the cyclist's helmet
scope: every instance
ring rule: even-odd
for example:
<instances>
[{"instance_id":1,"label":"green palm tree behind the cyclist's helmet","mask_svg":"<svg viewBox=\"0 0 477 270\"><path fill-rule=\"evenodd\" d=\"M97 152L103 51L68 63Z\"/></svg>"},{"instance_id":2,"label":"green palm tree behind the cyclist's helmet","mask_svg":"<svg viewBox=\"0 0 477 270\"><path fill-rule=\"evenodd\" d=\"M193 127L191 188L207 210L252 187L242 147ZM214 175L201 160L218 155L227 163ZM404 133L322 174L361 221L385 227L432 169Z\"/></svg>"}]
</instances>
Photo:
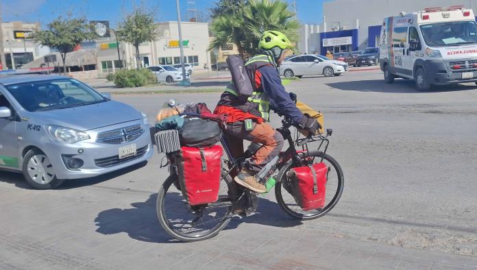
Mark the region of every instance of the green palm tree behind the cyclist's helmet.
<instances>
[{"instance_id":1,"label":"green palm tree behind the cyclist's helmet","mask_svg":"<svg viewBox=\"0 0 477 270\"><path fill-rule=\"evenodd\" d=\"M230 0L221 0L213 10L211 31L214 35L209 49L234 43L241 57L252 56L257 52L258 40L266 30L276 30L285 34L291 42L298 39L299 23L293 20L295 15L289 10L288 3L281 0L247 0L233 5L221 5ZM236 2L236 1L232 1Z\"/></svg>"}]
</instances>

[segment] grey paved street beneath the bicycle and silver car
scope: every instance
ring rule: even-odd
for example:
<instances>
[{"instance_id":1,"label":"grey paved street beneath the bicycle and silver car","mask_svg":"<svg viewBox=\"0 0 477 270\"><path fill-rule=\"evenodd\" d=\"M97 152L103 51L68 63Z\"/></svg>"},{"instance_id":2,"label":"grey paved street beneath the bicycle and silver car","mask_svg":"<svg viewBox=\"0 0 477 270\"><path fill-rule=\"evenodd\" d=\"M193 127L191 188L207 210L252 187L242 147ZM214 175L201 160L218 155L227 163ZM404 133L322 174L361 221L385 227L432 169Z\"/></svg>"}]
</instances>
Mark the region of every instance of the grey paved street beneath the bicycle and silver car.
<instances>
[{"instance_id":1,"label":"grey paved street beneath the bicycle and silver car","mask_svg":"<svg viewBox=\"0 0 477 270\"><path fill-rule=\"evenodd\" d=\"M339 77L304 77L286 88L321 110L326 128L334 130L328 154L341 164L345 188L330 214L296 223L280 211L270 193L260 199L257 214L236 219L232 228L210 241L159 245L170 242L154 212L156 193L167 177L167 169L160 169L162 155L155 154L147 164L133 169L66 182L56 191L33 191L21 175L0 172L0 269L2 262L5 269L31 265L134 269L131 265L138 261L146 269L158 269L172 267L184 258L208 258L206 262L187 260L193 268L230 268L226 262L237 265L239 260L247 262L245 268L263 268L265 262L254 265L243 254L253 250L263 253L260 258L271 256L275 251L270 244L278 247L291 238L301 239L305 248L310 245L307 237L325 239L330 254L343 248L338 257L321 257L329 262L346 258L346 248L361 254L355 249L365 252L376 244L374 254L378 249L404 247L399 252L408 254L409 260L415 258L416 263L426 254L435 258L462 254L455 257L465 261L459 267L477 267L477 86L441 86L420 93L412 81L396 79L395 84L384 84L380 71L360 71ZM206 102L214 108L219 96L113 95L113 99L142 110L152 124L168 99ZM272 119L278 127L279 116ZM270 245L270 253L263 245ZM224 250L241 255L228 257ZM201 257L187 257L197 252ZM208 267L217 254L225 256L224 264ZM361 255L350 257L347 267L293 262L278 268L374 268L365 267L372 257L361 263ZM385 269L418 268L405 267L402 257L394 264L391 260L395 258L384 258L388 257L376 260L390 262L389 267L382 265ZM424 265L423 269L431 267ZM449 263L448 268L458 267Z\"/></svg>"}]
</instances>

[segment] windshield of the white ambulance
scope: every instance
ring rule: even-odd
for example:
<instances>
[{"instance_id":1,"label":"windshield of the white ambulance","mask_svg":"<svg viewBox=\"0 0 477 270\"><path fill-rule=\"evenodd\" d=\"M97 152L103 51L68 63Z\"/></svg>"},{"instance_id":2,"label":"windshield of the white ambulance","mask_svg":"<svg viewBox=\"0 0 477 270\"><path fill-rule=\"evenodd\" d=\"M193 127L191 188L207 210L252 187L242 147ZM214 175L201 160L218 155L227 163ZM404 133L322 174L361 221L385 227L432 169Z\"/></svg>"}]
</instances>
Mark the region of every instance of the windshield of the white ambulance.
<instances>
[{"instance_id":1,"label":"windshield of the white ambulance","mask_svg":"<svg viewBox=\"0 0 477 270\"><path fill-rule=\"evenodd\" d=\"M428 46L456 46L477 43L475 21L432 23L421 25L420 28L424 42Z\"/></svg>"}]
</instances>

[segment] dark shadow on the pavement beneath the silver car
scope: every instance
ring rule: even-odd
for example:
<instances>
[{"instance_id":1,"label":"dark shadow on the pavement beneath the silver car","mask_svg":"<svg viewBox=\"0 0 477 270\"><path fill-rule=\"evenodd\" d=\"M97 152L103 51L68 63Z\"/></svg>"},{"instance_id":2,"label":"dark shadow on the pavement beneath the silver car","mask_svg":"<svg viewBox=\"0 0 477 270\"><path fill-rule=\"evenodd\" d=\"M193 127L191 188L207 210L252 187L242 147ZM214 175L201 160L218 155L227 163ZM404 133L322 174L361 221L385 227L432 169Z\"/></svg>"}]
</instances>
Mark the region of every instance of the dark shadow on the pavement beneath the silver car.
<instances>
[{"instance_id":1,"label":"dark shadow on the pavement beneath the silver car","mask_svg":"<svg viewBox=\"0 0 477 270\"><path fill-rule=\"evenodd\" d=\"M132 165L131 167L127 167L119 171L114 171L112 173L99 175L97 177L90 177L90 178L76 179L76 180L66 180L64 184L62 184L62 186L56 189L64 190L64 189L79 188L82 186L91 186L94 184L99 184L101 182L111 180L114 177L118 177L120 175L124 175L132 171L136 171L137 169L145 167L146 164L147 164L147 161L144 161L144 162L140 162L138 164ZM15 186L19 188L33 189L31 186L27 184L27 182L25 181L25 178L23 178L23 175L21 173L14 173L10 171L0 171L0 181L9 183L9 184L14 184Z\"/></svg>"}]
</instances>

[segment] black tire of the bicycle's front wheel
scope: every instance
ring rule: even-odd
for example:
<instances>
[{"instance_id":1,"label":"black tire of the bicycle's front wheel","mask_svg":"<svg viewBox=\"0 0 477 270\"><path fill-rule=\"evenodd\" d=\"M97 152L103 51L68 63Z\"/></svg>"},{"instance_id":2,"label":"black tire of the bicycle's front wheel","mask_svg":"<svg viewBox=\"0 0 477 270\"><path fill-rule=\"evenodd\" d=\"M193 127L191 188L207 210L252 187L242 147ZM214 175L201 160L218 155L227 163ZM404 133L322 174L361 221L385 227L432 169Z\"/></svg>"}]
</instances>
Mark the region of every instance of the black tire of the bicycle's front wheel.
<instances>
[{"instance_id":1,"label":"black tire of the bicycle's front wheel","mask_svg":"<svg viewBox=\"0 0 477 270\"><path fill-rule=\"evenodd\" d=\"M303 211L302 210L302 212L294 211L289 206L287 206L286 202L284 201L283 195L282 195L282 191L286 191L285 188L282 188L282 185L283 185L284 181L289 181L288 178L286 177L286 172L289 171L289 169L291 169L291 167L293 165L293 160L289 160L289 162L287 162L284 165L284 167L282 167L282 169L280 169L280 172L278 173L278 177L277 177L278 182L275 186L275 197L277 199L277 203L280 206L280 208L282 208L282 210L286 214L293 217L294 219L310 220L310 219L317 219L319 217L323 217L325 214L330 212L330 210L332 210L332 208L334 208L334 206L336 206L339 199L341 198L341 194L343 193L343 186L344 186L345 178L344 178L344 175L343 175L343 170L339 166L339 163L337 162L337 160L335 160L334 158L332 158L332 156L330 156L328 154L323 154L323 152L321 152L321 151L310 151L310 152L308 152L308 154L306 154L306 153L300 154L300 158L306 158L306 157L310 157L310 156L313 156L315 158L320 158L320 159L323 157L323 160L326 160L327 162L329 162L332 165L332 167L334 167L334 170L337 172L337 178L338 178L337 190L336 190L336 193L334 193L334 196L333 196L332 200L330 202L328 202L328 204L326 204L326 206L324 208L322 208L321 210L310 210L310 211ZM288 192L288 191L286 191L286 192ZM289 195L291 195L291 194L289 193ZM327 194L327 197L328 197L328 194ZM293 199L293 201L294 201L294 199ZM295 201L295 203L296 203L296 201ZM315 212L312 212L312 211L315 211Z\"/></svg>"}]
</instances>

